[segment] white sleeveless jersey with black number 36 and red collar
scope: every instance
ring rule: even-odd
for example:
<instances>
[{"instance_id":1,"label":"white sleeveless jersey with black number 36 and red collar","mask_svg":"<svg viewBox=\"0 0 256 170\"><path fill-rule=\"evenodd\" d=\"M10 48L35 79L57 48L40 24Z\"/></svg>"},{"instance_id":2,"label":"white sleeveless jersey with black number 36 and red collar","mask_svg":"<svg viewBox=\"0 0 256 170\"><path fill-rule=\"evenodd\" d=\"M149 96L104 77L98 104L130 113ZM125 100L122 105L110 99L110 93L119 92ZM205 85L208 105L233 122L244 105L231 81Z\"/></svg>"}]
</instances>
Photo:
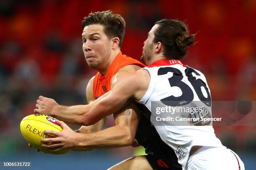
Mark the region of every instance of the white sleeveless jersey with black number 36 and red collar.
<instances>
[{"instance_id":1,"label":"white sleeveless jersey with black number 36 and red collar","mask_svg":"<svg viewBox=\"0 0 256 170\"><path fill-rule=\"evenodd\" d=\"M207 113L199 117L211 117L211 96L205 76L202 72L187 65L183 65L179 60L158 60L148 67L150 74L150 84L147 92L139 103L145 105L151 111L151 122L155 126L161 139L169 145L178 157L178 162L185 170L192 146L222 146L220 140L216 138L212 124L203 124L202 121L175 121L175 117L197 117L195 114L182 115L181 112L172 112L174 121L153 122L158 117L151 107L154 101L161 102L164 106L174 107L194 107L203 106ZM153 104L152 104L153 105ZM164 107L163 106L163 107ZM201 122L201 124L200 124Z\"/></svg>"}]
</instances>

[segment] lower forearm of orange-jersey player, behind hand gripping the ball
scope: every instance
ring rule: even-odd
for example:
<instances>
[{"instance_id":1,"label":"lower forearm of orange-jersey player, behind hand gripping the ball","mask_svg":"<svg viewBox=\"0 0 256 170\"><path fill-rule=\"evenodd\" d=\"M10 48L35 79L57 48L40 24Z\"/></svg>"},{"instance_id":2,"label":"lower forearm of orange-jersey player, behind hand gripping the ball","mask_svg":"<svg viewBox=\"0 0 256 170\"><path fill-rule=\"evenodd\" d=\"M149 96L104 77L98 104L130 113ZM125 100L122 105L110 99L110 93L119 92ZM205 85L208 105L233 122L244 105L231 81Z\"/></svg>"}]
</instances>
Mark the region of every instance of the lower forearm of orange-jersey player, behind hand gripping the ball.
<instances>
[{"instance_id":1,"label":"lower forearm of orange-jersey player, behind hand gripping the ball","mask_svg":"<svg viewBox=\"0 0 256 170\"><path fill-rule=\"evenodd\" d=\"M97 133L81 134L77 147L80 148L119 148L133 143L134 135L128 127L115 125Z\"/></svg>"}]
</instances>

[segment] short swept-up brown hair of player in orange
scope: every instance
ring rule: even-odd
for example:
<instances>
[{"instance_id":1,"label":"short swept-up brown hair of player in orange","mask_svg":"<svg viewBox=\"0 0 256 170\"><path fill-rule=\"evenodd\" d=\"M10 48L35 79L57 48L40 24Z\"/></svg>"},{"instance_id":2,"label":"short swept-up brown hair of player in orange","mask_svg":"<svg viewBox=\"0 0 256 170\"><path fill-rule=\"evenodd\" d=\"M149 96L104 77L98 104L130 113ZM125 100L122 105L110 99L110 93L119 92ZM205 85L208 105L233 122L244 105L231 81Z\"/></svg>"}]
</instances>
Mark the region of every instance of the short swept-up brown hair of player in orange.
<instances>
[{"instance_id":1,"label":"short swept-up brown hair of player in orange","mask_svg":"<svg viewBox=\"0 0 256 170\"><path fill-rule=\"evenodd\" d=\"M125 34L125 20L121 15L113 14L111 10L90 13L82 20L82 29L92 24L100 24L104 27L104 33L109 37L119 38L119 47Z\"/></svg>"}]
</instances>

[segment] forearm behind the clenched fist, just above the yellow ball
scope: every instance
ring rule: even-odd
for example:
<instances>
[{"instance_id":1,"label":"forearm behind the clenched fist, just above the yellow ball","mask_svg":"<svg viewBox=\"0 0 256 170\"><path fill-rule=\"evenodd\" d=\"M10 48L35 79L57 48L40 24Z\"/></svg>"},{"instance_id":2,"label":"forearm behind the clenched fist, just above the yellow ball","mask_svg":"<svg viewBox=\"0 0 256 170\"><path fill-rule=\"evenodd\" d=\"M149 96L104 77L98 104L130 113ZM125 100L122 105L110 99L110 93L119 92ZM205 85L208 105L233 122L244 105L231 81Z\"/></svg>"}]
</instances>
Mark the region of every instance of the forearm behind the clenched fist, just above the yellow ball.
<instances>
[{"instance_id":1,"label":"forearm behind the clenched fist, just above the yellow ball","mask_svg":"<svg viewBox=\"0 0 256 170\"><path fill-rule=\"evenodd\" d=\"M62 106L57 105L51 112L51 116L72 124L83 125L82 116L89 105Z\"/></svg>"}]
</instances>

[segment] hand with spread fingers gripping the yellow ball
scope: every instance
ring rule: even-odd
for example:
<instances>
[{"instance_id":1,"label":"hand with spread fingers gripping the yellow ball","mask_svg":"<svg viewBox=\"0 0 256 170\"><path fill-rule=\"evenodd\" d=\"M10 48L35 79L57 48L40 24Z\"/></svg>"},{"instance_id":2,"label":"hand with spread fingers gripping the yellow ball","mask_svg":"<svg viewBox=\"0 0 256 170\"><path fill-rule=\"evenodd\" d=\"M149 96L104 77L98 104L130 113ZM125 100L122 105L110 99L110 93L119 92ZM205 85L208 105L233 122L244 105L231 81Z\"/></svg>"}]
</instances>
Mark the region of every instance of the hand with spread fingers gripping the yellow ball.
<instances>
[{"instance_id":1,"label":"hand with spread fingers gripping the yellow ball","mask_svg":"<svg viewBox=\"0 0 256 170\"><path fill-rule=\"evenodd\" d=\"M44 134L54 136L55 138L42 138L42 147L48 148L51 151L59 151L70 149L77 146L77 134L67 124L57 120L57 123L61 125L63 130L56 132L54 130L44 130Z\"/></svg>"}]
</instances>

